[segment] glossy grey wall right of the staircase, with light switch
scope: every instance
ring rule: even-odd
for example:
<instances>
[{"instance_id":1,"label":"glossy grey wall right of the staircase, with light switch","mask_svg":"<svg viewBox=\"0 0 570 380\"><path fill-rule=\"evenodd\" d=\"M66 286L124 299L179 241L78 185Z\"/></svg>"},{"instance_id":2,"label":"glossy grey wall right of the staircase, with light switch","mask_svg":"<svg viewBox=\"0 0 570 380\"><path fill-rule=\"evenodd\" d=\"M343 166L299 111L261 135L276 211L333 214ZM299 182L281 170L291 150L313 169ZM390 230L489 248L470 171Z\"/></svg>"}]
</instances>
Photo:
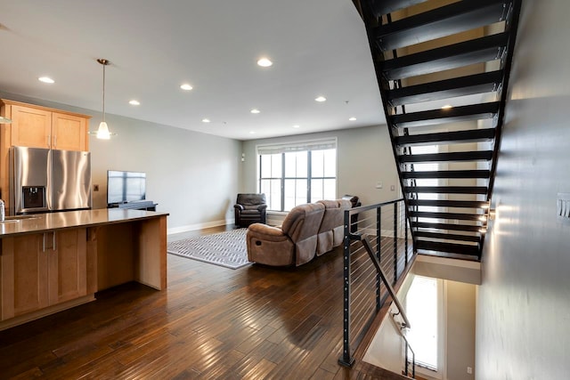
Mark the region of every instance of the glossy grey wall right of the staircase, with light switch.
<instances>
[{"instance_id":1,"label":"glossy grey wall right of the staircase, with light switch","mask_svg":"<svg viewBox=\"0 0 570 380\"><path fill-rule=\"evenodd\" d=\"M570 376L570 2L523 1L477 295L476 378Z\"/></svg>"}]
</instances>

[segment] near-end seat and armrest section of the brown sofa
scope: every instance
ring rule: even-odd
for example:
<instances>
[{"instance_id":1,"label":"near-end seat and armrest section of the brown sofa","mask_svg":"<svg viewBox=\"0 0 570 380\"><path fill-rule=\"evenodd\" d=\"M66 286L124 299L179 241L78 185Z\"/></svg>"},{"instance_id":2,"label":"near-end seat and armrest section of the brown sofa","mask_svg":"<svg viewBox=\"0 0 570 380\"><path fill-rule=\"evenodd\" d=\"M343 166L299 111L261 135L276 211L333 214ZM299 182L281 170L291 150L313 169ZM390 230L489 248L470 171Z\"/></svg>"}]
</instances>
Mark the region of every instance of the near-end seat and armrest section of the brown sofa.
<instances>
[{"instance_id":1,"label":"near-end seat and armrest section of the brown sofa","mask_svg":"<svg viewBox=\"0 0 570 380\"><path fill-rule=\"evenodd\" d=\"M322 203L309 203L293 207L281 228L251 224L246 237L248 260L274 266L310 262L316 253L323 214Z\"/></svg>"}]
</instances>

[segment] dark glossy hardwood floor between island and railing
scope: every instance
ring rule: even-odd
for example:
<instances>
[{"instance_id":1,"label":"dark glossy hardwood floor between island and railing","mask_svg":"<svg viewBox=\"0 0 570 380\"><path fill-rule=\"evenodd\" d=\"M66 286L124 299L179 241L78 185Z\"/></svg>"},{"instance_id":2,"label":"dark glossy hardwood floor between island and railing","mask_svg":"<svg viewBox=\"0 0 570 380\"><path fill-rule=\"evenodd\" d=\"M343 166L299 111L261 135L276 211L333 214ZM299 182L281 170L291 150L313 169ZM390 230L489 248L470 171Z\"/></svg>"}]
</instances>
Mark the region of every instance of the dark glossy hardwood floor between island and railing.
<instances>
[{"instance_id":1,"label":"dark glossy hardwood floor between island and railing","mask_svg":"<svg viewBox=\"0 0 570 380\"><path fill-rule=\"evenodd\" d=\"M129 283L0 332L0 378L401 378L337 363L340 248L298 268L167 261L166 291Z\"/></svg>"}]
</instances>

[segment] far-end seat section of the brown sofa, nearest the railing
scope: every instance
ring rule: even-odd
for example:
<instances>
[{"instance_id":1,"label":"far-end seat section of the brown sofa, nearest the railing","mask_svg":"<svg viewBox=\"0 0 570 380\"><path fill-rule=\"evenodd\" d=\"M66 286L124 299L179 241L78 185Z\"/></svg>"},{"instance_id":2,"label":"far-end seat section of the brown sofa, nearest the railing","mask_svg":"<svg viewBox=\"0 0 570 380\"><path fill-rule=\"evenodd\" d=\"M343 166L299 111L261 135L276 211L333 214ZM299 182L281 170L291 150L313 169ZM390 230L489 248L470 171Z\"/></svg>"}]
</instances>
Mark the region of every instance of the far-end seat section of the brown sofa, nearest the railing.
<instances>
[{"instance_id":1,"label":"far-end seat section of the brown sofa, nearest the railing","mask_svg":"<svg viewBox=\"0 0 570 380\"><path fill-rule=\"evenodd\" d=\"M317 235L317 255L323 255L342 244L345 237L345 210L352 207L348 199L319 200L325 206Z\"/></svg>"}]
</instances>

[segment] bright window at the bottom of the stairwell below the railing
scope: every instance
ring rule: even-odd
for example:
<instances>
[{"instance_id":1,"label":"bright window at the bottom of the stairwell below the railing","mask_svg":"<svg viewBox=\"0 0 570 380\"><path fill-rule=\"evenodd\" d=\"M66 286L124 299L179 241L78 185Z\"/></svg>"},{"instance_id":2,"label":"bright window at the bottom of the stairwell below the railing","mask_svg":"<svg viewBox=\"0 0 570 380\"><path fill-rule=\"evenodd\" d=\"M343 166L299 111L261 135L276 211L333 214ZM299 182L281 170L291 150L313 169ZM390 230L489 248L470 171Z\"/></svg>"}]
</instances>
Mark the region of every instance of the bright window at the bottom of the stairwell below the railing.
<instances>
[{"instance_id":1,"label":"bright window at the bottom of the stairwell below the railing","mask_svg":"<svg viewBox=\"0 0 570 380\"><path fill-rule=\"evenodd\" d=\"M437 371L439 350L438 280L415 276L406 295L406 314L411 328L406 338L416 353L419 367Z\"/></svg>"}]
</instances>

